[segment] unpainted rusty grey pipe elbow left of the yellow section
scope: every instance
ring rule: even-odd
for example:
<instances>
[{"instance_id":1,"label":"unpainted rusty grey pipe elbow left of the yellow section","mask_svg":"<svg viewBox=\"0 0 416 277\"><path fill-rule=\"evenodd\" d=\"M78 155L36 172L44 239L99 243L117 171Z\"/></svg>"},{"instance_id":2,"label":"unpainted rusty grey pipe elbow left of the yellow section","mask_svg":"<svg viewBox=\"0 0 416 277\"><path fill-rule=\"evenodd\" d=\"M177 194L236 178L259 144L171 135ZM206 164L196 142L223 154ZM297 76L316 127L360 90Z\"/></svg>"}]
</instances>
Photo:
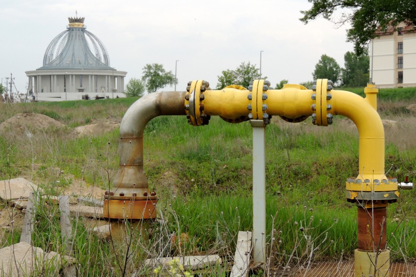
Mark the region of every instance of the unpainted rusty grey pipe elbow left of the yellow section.
<instances>
[{"instance_id":1,"label":"unpainted rusty grey pipe elbow left of the yellow section","mask_svg":"<svg viewBox=\"0 0 416 277\"><path fill-rule=\"evenodd\" d=\"M106 199L133 199L136 202L143 197L148 200L157 199L156 194L148 190L143 168L143 133L146 124L155 117L186 115L184 99L185 92L155 92L137 100L126 111L120 124L119 170L114 178L113 189L105 196ZM111 211L111 208L107 208L108 218L120 218L120 215L113 217ZM152 212L151 217L154 215Z\"/></svg>"}]
</instances>

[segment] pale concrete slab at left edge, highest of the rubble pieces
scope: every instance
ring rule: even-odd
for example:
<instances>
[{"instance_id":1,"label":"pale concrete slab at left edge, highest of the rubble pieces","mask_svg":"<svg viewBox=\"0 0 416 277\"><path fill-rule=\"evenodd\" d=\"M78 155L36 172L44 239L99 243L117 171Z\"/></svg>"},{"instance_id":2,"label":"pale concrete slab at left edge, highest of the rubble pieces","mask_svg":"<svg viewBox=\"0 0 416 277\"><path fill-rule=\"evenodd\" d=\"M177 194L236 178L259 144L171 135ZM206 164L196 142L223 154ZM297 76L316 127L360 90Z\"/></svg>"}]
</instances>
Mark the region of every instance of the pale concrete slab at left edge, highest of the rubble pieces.
<instances>
[{"instance_id":1,"label":"pale concrete slab at left edge, highest of the rubble pieces","mask_svg":"<svg viewBox=\"0 0 416 277\"><path fill-rule=\"evenodd\" d=\"M29 198L29 193L37 190L38 186L25 178L0 181L0 198L7 201Z\"/></svg>"}]
</instances>

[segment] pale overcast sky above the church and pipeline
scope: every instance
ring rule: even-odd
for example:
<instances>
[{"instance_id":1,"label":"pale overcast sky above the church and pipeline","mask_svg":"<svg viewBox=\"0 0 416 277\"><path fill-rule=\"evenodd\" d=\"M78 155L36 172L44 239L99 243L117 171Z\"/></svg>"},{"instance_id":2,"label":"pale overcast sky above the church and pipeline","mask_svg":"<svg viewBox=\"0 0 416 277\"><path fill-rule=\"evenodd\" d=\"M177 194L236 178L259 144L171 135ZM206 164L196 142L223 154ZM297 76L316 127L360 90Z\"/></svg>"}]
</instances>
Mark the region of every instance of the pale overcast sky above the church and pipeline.
<instances>
[{"instance_id":1,"label":"pale overcast sky above the church and pipeline","mask_svg":"<svg viewBox=\"0 0 416 277\"><path fill-rule=\"evenodd\" d=\"M260 66L272 86L312 80L322 54L341 67L353 51L346 28L318 19L304 25L307 0L10 0L0 9L0 78L13 73L25 92L25 71L42 66L49 43L66 30L68 17L85 17L86 29L105 45L110 65L141 78L146 63L175 74L177 90L192 79L215 87L217 76L241 62ZM173 90L166 87L164 90Z\"/></svg>"}]
</instances>

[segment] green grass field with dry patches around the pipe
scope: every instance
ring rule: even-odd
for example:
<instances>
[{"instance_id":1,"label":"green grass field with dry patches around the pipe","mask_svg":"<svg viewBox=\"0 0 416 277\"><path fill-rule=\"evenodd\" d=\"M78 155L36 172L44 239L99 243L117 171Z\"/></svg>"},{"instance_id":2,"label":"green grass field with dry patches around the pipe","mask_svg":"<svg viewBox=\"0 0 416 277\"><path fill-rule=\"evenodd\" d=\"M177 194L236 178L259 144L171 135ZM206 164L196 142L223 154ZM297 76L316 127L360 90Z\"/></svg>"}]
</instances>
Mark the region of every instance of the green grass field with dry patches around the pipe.
<instances>
[{"instance_id":1,"label":"green grass field with dry patches around the pipe","mask_svg":"<svg viewBox=\"0 0 416 277\"><path fill-rule=\"evenodd\" d=\"M39 113L66 125L3 130L0 179L25 177L56 196L73 183L108 188L118 168L118 130L86 137L74 136L72 130L94 119L120 120L135 100L0 103L0 123L18 113ZM386 172L399 180L409 175L415 182L416 114L406 109L412 103L412 90L380 92L381 118L395 121L385 128ZM146 230L149 240L130 237L134 247L128 253L92 235L88 220L74 219L74 255L83 276L146 275L143 260L162 254L233 257L238 231L252 229L251 132L248 122L229 124L218 117L203 127L192 127L180 116L151 120L145 130L145 171L150 189L160 197L159 219ZM273 118L266 134L265 239L272 267L301 266L317 246L314 260L352 257L356 207L344 194L346 179L358 173L354 124L342 117L329 127L313 126L311 119L291 124ZM415 199L416 190L405 191L388 207L387 240L395 260L416 258ZM3 203L1 210L10 214L11 208ZM35 246L61 253L58 208L41 203L39 210ZM3 233L1 246L19 241L19 227ZM177 243L172 234L186 234L186 239ZM126 255L135 258L124 267Z\"/></svg>"}]
</instances>

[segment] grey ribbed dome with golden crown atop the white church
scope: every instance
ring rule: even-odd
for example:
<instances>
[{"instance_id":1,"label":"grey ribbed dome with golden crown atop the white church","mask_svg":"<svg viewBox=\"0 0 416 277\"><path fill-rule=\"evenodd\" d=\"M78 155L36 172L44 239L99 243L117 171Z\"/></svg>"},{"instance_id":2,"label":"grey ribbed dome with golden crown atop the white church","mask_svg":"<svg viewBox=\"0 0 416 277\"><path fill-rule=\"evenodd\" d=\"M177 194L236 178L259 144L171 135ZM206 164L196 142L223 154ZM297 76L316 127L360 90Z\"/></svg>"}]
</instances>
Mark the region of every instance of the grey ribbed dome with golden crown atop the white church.
<instances>
[{"instance_id":1,"label":"grey ribbed dome with golden crown atop the white church","mask_svg":"<svg viewBox=\"0 0 416 277\"><path fill-rule=\"evenodd\" d=\"M110 58L103 42L86 30L84 19L68 18L69 25L49 43L43 56L43 66L37 70L116 70L110 67Z\"/></svg>"}]
</instances>

